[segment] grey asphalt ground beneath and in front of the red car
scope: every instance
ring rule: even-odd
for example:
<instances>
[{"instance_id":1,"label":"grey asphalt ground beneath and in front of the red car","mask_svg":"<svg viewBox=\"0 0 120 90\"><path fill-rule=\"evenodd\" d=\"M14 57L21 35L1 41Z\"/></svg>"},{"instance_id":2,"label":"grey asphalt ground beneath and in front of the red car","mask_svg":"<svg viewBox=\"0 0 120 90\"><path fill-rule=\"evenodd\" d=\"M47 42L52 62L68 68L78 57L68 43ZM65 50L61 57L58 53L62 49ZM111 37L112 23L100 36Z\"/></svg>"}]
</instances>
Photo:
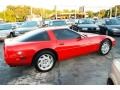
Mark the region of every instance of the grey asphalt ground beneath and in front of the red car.
<instances>
[{"instance_id":1,"label":"grey asphalt ground beneath and in front of the red car","mask_svg":"<svg viewBox=\"0 0 120 90\"><path fill-rule=\"evenodd\" d=\"M41 73L34 67L9 67L3 58L3 44L0 43L1 85L105 85L112 60L120 58L120 37L117 45L106 56L93 53L60 63L49 72Z\"/></svg>"}]
</instances>

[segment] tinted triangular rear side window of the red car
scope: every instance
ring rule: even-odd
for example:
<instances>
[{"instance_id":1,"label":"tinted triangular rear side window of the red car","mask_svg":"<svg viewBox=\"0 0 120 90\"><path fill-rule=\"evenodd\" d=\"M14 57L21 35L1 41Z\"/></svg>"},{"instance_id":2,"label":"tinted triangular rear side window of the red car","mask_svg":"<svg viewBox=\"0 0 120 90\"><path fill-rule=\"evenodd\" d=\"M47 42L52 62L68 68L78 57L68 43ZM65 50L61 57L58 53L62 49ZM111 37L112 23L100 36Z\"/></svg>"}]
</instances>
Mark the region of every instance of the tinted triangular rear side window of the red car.
<instances>
[{"instance_id":1,"label":"tinted triangular rear side window of the red car","mask_svg":"<svg viewBox=\"0 0 120 90\"><path fill-rule=\"evenodd\" d=\"M28 38L25 38L23 41L49 41L50 38L48 36L47 32L37 33L33 36L30 36Z\"/></svg>"}]
</instances>

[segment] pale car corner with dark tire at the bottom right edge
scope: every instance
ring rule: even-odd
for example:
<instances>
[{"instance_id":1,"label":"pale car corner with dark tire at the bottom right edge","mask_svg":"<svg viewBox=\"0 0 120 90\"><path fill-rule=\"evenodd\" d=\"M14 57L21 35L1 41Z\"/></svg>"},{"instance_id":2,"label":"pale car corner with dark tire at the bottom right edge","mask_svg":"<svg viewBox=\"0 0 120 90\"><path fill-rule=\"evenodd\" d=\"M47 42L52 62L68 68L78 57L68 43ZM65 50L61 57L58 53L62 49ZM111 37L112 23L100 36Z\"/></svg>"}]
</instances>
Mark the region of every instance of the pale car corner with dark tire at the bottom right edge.
<instances>
[{"instance_id":1,"label":"pale car corner with dark tire at the bottom right edge","mask_svg":"<svg viewBox=\"0 0 120 90\"><path fill-rule=\"evenodd\" d=\"M120 59L116 59L113 61L107 84L120 85Z\"/></svg>"}]
</instances>

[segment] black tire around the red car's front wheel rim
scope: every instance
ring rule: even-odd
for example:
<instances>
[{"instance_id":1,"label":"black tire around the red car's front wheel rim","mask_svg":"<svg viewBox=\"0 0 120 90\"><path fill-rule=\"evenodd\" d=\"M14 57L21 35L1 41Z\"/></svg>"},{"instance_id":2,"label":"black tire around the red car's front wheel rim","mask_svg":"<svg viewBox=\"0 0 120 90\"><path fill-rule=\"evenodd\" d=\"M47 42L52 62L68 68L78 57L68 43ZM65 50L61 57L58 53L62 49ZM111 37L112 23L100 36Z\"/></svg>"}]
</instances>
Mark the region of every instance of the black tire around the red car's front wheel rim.
<instances>
[{"instance_id":1,"label":"black tire around the red car's front wheel rim","mask_svg":"<svg viewBox=\"0 0 120 90\"><path fill-rule=\"evenodd\" d=\"M104 43L108 43L108 44L109 44L109 50L108 50L106 53L103 53L103 50L102 50L102 46L103 46ZM105 39L105 40L103 40L103 41L101 42L101 44L100 44L99 54L100 54L100 55L107 55L107 54L110 52L111 48L112 48L112 43L111 43L111 41L110 41L109 39Z\"/></svg>"}]
</instances>

